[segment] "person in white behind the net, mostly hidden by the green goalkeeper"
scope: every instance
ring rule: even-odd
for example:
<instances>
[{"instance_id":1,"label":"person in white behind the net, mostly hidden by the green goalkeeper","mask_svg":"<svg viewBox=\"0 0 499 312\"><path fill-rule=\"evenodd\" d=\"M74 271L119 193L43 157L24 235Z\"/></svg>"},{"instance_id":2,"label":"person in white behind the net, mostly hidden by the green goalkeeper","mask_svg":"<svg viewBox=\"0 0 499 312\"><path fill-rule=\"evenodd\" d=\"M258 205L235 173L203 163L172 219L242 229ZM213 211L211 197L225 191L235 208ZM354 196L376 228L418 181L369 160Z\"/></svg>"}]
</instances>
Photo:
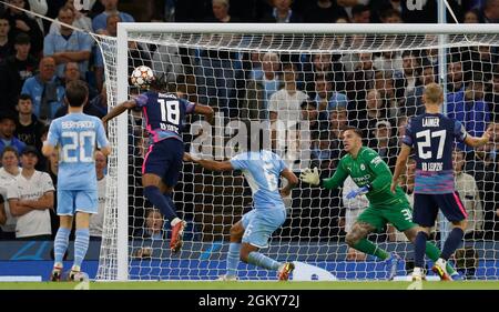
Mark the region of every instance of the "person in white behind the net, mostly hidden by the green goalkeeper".
<instances>
[{"instance_id":1,"label":"person in white behind the net, mostly hidden by the green goalkeeper","mask_svg":"<svg viewBox=\"0 0 499 312\"><path fill-rule=\"evenodd\" d=\"M357 188L357 184L355 184L350 175L348 175L348 178L343 182L342 199L343 207L345 208L345 233L349 233L352 231L352 227L357 221L357 218L369 205L369 201L366 195L358 195L353 199L347 199L346 195ZM364 252L348 246L346 255L347 261L364 261L366 258L367 255Z\"/></svg>"}]
</instances>

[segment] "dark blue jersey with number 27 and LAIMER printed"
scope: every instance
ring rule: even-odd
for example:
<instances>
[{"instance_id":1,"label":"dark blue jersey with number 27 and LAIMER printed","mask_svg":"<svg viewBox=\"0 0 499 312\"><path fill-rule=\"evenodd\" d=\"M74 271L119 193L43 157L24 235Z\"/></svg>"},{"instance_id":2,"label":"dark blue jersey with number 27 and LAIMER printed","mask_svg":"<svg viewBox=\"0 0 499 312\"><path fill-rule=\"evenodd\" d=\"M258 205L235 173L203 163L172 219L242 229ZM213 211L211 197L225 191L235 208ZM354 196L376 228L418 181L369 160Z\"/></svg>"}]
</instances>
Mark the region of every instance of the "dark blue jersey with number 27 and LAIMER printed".
<instances>
[{"instance_id":1,"label":"dark blue jersey with number 27 and LAIMER printed","mask_svg":"<svg viewBox=\"0 0 499 312\"><path fill-rule=\"evenodd\" d=\"M467 135L459 121L440 113L424 113L410 120L403 143L415 149L415 193L446 194L455 191L455 139L464 142Z\"/></svg>"}]
</instances>

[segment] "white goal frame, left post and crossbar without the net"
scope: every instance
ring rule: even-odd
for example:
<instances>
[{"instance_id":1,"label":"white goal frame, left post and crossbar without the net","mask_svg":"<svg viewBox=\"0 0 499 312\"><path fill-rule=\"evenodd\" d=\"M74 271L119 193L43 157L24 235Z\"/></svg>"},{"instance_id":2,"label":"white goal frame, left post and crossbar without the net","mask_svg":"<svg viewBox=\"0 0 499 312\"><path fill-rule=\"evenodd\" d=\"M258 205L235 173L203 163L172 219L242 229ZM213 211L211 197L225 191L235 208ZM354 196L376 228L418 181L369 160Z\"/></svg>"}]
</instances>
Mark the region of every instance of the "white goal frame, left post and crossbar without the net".
<instances>
[{"instance_id":1,"label":"white goal frame, left post and crossbar without the net","mask_svg":"<svg viewBox=\"0 0 499 312\"><path fill-rule=\"evenodd\" d=\"M118 23L118 56L116 56L116 103L128 100L128 38L130 33L258 33L258 34L499 34L499 24L352 24L352 23ZM444 41L440 41L444 42ZM440 53L445 56L445 53ZM442 62L441 62L442 63ZM441 78L441 77L440 77ZM128 115L121 114L116 119L116 147L113 149L118 163L128 164ZM118 229L116 242L116 276L119 281L129 279L129 185L128 165L118 165ZM113 192L114 193L114 192Z\"/></svg>"}]
</instances>

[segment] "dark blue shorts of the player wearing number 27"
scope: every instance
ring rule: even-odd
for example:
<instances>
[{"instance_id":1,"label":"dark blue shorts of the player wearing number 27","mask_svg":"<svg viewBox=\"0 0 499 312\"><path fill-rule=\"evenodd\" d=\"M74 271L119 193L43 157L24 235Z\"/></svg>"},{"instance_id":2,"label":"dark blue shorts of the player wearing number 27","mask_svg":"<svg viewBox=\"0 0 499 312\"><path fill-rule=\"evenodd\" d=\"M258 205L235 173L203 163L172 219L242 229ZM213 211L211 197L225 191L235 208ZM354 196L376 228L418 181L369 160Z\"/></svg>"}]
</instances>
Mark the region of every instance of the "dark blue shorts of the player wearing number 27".
<instances>
[{"instance_id":1,"label":"dark blue shorts of the player wearing number 27","mask_svg":"<svg viewBox=\"0 0 499 312\"><path fill-rule=\"evenodd\" d=\"M421 227L431 228L437 220L438 209L451 222L468 218L459 193L414 194L413 221Z\"/></svg>"}]
</instances>

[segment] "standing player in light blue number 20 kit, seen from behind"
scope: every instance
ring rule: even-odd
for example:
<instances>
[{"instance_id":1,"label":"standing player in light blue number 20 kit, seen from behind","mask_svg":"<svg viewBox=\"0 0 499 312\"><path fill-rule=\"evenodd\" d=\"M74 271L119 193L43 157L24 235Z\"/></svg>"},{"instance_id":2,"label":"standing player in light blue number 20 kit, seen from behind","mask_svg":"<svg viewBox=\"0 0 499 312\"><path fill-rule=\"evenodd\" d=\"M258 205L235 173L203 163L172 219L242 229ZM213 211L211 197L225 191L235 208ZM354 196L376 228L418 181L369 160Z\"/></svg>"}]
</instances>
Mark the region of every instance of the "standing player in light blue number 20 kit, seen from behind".
<instances>
[{"instance_id":1,"label":"standing player in light blue number 20 kit, seen from behind","mask_svg":"<svg viewBox=\"0 0 499 312\"><path fill-rule=\"evenodd\" d=\"M77 80L68 83L65 98L68 114L52 121L42 152L52 154L59 147L58 215L60 227L54 240L54 265L52 281L59 281L62 258L68 249L69 235L77 217L74 240L74 263L70 280L81 281L81 263L89 248L90 214L98 212L98 187L95 177L95 143L104 155L111 152L105 130L100 119L83 113L89 98L86 83Z\"/></svg>"}]
</instances>

